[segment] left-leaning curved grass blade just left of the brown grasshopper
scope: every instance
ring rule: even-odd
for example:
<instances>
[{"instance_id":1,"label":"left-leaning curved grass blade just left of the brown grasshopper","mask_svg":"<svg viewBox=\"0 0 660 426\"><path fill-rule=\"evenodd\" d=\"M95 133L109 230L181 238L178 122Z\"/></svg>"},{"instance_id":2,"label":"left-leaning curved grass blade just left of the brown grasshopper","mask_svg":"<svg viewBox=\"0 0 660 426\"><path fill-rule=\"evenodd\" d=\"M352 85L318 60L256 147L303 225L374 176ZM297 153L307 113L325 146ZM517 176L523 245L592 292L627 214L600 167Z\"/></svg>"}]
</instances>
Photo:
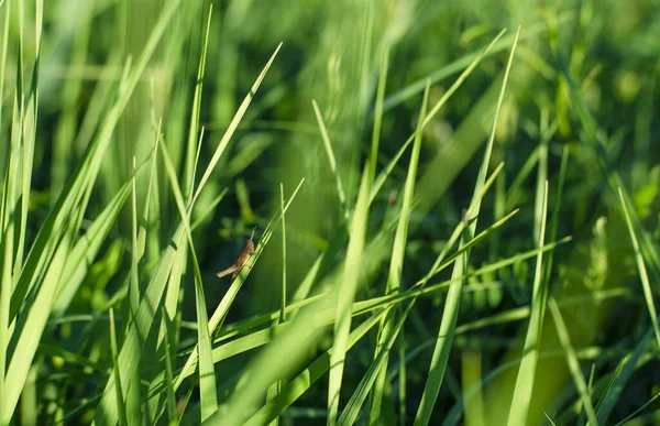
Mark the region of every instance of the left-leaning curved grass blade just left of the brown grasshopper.
<instances>
[{"instance_id":1,"label":"left-leaning curved grass blade just left of the brown grasshopper","mask_svg":"<svg viewBox=\"0 0 660 426\"><path fill-rule=\"evenodd\" d=\"M182 217L182 223L188 239L188 247L193 258L193 271L195 273L195 304L197 308L197 347L199 352L199 396L201 406L201 420L206 420L211 414L218 409L218 396L216 392L216 372L213 369L213 359L211 356L211 336L209 334L209 319L206 308L206 297L204 295L204 283L201 282L201 272L195 252L193 242L193 233L188 221L188 212L184 205L184 195L182 194L179 184L176 177L176 171L167 153L167 146L161 149L163 161L169 185L172 186L176 206Z\"/></svg>"}]
</instances>

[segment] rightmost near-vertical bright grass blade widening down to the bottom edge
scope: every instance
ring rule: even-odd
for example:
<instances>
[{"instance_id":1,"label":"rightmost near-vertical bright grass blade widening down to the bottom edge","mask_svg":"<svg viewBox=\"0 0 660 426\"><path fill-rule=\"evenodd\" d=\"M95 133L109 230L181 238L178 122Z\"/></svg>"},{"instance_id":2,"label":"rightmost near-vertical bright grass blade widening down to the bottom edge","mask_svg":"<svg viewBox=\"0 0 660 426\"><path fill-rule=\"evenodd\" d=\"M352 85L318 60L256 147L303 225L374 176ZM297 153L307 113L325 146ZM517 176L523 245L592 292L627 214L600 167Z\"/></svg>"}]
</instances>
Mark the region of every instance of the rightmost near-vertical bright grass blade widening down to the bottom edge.
<instances>
[{"instance_id":1,"label":"rightmost near-vertical bright grass blade widening down to the bottom edge","mask_svg":"<svg viewBox=\"0 0 660 426\"><path fill-rule=\"evenodd\" d=\"M538 190L538 188L537 188ZM548 211L548 182L543 189L542 220L540 222L539 245L544 243L546 219ZM548 295L548 283L543 280L543 253L539 252L537 256L536 271L534 275L534 290L531 299L531 312L525 346L522 348L522 359L520 369L514 387L514 396L510 404L508 425L521 425L527 422L529 405L531 404L531 394L536 376L536 368L539 359L539 347L541 341L541 330L546 312L546 301Z\"/></svg>"}]
</instances>

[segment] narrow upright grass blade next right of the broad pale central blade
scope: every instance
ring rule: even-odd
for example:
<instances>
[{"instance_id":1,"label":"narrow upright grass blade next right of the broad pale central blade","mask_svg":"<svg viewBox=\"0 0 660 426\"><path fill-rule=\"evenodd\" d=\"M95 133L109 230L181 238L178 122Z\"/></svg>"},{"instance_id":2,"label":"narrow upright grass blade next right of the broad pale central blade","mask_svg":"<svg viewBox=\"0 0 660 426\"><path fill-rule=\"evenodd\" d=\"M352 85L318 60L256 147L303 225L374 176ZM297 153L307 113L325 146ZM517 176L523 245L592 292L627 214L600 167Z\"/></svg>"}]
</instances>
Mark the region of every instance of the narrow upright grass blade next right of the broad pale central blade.
<instances>
[{"instance_id":1,"label":"narrow upright grass blade next right of the broad pale central blade","mask_svg":"<svg viewBox=\"0 0 660 426\"><path fill-rule=\"evenodd\" d=\"M385 286L385 294L389 295L399 292L402 272L404 269L404 258L406 254L406 243L408 241L408 222L410 220L413 195L415 194L415 179L417 178L417 165L419 163L419 152L421 150L421 138L422 138L422 123L426 119L427 103L429 99L429 91L431 89L430 81L427 81L427 87L424 92L424 99L421 101L421 108L419 112L419 119L417 122L417 131L415 133L415 144L413 145L413 153L410 155L410 164L408 165L408 174L406 177L406 184L404 187L404 197L402 200L400 214L396 233L394 237L394 245L392 248L392 260L389 263L389 273L387 275L387 284ZM389 335L393 332L394 327L394 309L391 309L378 327L378 342L375 348L374 358L380 357L381 348L385 347ZM403 327L403 325L402 325ZM400 331L400 327L397 330ZM392 349L392 345L388 345ZM387 351L389 351L387 349ZM381 361L381 368L378 370L377 379L375 381L374 390L371 397L369 418L370 424L374 424L381 417L381 403L383 400L383 391L385 387L385 379L387 373L387 360L388 353L383 354ZM374 361L375 362L375 361Z\"/></svg>"}]
</instances>

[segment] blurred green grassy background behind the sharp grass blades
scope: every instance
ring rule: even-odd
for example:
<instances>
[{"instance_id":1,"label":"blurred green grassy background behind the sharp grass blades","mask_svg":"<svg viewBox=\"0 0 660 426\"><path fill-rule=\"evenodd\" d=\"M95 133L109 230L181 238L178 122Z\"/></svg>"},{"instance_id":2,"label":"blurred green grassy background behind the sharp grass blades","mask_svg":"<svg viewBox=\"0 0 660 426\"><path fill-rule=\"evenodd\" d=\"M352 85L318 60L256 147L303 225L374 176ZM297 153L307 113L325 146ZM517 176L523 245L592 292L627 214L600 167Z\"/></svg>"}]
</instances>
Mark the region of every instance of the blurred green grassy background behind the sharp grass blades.
<instances>
[{"instance_id":1,"label":"blurred green grassy background behind the sharp grass blades","mask_svg":"<svg viewBox=\"0 0 660 426\"><path fill-rule=\"evenodd\" d=\"M6 0L2 8L8 3ZM66 0L44 4L29 241L34 239L84 151L99 132L99 123L117 96L124 65L140 56L165 3ZM197 70L211 4L198 118L204 133L197 129L190 133ZM11 7L4 22L10 26L3 64L0 148L3 166L8 164L14 87L30 86L36 54L34 2L20 6L14 1ZM21 14L24 14L23 21ZM462 210L470 204L518 26L520 40L491 161L492 167L499 162L505 162L505 166L484 199L480 228L514 208L520 208L520 212L475 247L469 267L493 264L538 245L539 236L535 233L539 220L538 207L535 207L539 203L537 179L547 175L549 215L557 212L559 217L557 237L573 237L554 250L550 291L558 299L582 297L580 303L562 306L562 315L571 342L583 361L585 376L588 380L593 368L595 378L604 378L607 383L608 374L631 353L650 326L626 219L618 195L608 184L612 178L608 173L620 176L634 200L641 226L639 231L649 242L647 262L653 259L656 262L647 267L653 296L658 298L658 260L653 258L660 242L660 95L657 89L660 7L657 1L186 1L167 25L114 129L90 194L86 220L96 218L130 181L133 157L138 165L146 163L148 166L158 127L184 194L189 194L196 164L195 152L189 146L201 140L196 177L199 179L241 100L282 42L282 50L228 151L201 193L191 221L202 220L194 231L194 240L206 304L212 312L229 287L229 281L217 278L216 272L231 264L253 227L256 227L257 238L261 236L279 206L280 183L288 197L305 178L286 215L286 267L292 297L343 222L312 100L318 103L328 128L352 209L370 153L384 47L388 47L389 57L377 172L414 133L425 80L429 78L432 83L430 105L433 105L474 55L507 29L495 48L425 128L416 205L403 270L403 286L409 287L431 266L461 221ZM19 69L21 56L23 66ZM593 114L603 151L594 150L590 142L584 122L575 112L566 76L576 83ZM556 208L564 151L569 154L564 194L562 204ZM372 205L367 241L370 234L376 234L396 219L393 206L400 198L408 160L409 152L406 152ZM607 167L603 168L603 164ZM179 220L164 167L157 173L150 207L153 214L146 240L147 258L141 272L143 278L158 261ZM138 179L138 211L145 208L147 183L146 178ZM222 201L207 214L209 206L213 206L212 200L224 189ZM117 295L130 274L131 232L132 214L127 206L94 260L67 315L101 313ZM393 232L385 234L389 236L386 244L391 245ZM280 238L276 231L238 295L228 321L278 308L283 267ZM548 238L547 242L550 242ZM364 283L358 298L384 293L387 250L365 253ZM497 285L465 293L459 325L529 305L534 270L534 259L520 260L490 275L470 278L466 285ZM449 274L446 275L442 277L448 278ZM191 269L184 276L182 319L195 321ZM415 353L415 358L409 362L406 378L407 407L404 411L407 414L397 417L393 413L399 408L384 404L383 411L392 412L384 414L385 424L398 420L411 424L415 417L443 302L444 297L439 294L425 297L408 320L403 348ZM517 369L505 369L488 380L483 378L520 356L526 324L526 320L494 324L455 338L433 412L436 424L443 419L449 422L457 415L452 407L461 412L454 404L474 374L477 381L483 380L481 409L486 424L504 424ZM553 326L544 328L541 347L559 348ZM70 338L67 336L72 332L76 330L46 329L42 341L57 346L62 339ZM185 341L185 332L182 339ZM375 336L350 352L344 372L346 389L354 389L369 367L374 340ZM331 341L322 341L320 347L328 345ZM648 362L640 362L629 379L625 397L618 401L610 420L624 418L660 392L658 348L649 348L649 353ZM57 379L54 374L61 369L48 356L42 357L40 378L55 385L58 380L74 380L68 374ZM248 359L248 356L238 357L226 362L240 369ZM64 394L43 383L44 391L37 398L40 420L55 418L55 408L48 402L63 407L64 413L76 408L96 394L98 383L95 382L96 379L87 385L70 385ZM326 379L321 383L296 405L320 409L322 416ZM396 387L394 382L392 386ZM219 395L223 397L222 393ZM598 393L594 391L594 395L595 404ZM558 424L576 424L580 417L573 414L579 408L571 408L575 401L564 358L561 354L541 357L529 423L547 422L544 412L559 418ZM340 405L343 403L342 394ZM637 423L630 424L660 422L659 409L659 403L652 403L632 420ZM94 409L87 407L86 411L87 414L82 411L77 417L79 420L90 419ZM306 418L317 413L315 411L289 413L284 422L324 423L324 418ZM460 422L479 424L465 415Z\"/></svg>"}]
</instances>

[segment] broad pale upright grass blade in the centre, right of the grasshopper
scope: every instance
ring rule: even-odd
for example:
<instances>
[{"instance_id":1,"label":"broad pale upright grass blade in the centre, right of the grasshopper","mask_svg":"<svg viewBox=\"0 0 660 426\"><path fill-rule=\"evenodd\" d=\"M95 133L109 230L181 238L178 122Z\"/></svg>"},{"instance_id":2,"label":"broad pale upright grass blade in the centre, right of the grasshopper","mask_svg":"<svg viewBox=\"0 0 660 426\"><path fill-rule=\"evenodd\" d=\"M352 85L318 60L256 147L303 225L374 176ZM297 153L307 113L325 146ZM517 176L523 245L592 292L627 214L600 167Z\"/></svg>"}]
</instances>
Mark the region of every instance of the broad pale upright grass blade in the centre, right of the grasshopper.
<instances>
[{"instance_id":1,"label":"broad pale upright grass blade in the centre, right of the grasshopper","mask_svg":"<svg viewBox=\"0 0 660 426\"><path fill-rule=\"evenodd\" d=\"M369 219L369 168L363 172L355 211L351 220L349 248L346 251L343 281L338 288L337 320L334 323L334 340L330 357L330 380L328 384L328 425L337 422L339 411L339 393L343 376L344 361L351 330L351 307L360 282L362 252Z\"/></svg>"}]
</instances>

